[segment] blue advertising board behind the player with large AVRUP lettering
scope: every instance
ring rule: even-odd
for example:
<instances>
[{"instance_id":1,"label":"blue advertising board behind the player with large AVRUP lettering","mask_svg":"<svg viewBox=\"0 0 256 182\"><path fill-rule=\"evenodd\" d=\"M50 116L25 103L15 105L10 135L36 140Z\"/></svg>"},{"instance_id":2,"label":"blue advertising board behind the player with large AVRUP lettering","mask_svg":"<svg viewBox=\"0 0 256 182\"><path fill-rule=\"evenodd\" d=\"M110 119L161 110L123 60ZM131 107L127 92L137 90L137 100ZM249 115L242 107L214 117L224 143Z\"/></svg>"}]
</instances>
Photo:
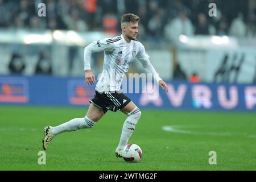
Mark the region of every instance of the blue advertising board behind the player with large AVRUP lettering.
<instances>
[{"instance_id":1,"label":"blue advertising board behind the player with large AVRUP lettering","mask_svg":"<svg viewBox=\"0 0 256 182\"><path fill-rule=\"evenodd\" d=\"M255 84L191 84L180 81L167 81L167 84L168 93L150 81L136 84L129 81L122 91L139 107L256 111ZM94 94L94 86L85 86L83 78L0 76L1 105L88 106Z\"/></svg>"}]
</instances>

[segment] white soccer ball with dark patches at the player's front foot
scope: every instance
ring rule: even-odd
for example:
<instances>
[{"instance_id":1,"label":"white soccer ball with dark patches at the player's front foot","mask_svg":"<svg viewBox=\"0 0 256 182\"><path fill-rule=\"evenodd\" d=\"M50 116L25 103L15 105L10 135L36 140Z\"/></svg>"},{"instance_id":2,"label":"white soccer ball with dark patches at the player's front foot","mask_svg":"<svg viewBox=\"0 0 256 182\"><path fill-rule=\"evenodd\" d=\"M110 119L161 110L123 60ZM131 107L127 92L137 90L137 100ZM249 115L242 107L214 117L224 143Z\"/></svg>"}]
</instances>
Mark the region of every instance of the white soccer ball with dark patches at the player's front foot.
<instances>
[{"instance_id":1,"label":"white soccer ball with dark patches at the player's front foot","mask_svg":"<svg viewBox=\"0 0 256 182\"><path fill-rule=\"evenodd\" d=\"M142 158L142 150L137 144L130 143L123 148L123 160L126 162L138 162Z\"/></svg>"}]
</instances>

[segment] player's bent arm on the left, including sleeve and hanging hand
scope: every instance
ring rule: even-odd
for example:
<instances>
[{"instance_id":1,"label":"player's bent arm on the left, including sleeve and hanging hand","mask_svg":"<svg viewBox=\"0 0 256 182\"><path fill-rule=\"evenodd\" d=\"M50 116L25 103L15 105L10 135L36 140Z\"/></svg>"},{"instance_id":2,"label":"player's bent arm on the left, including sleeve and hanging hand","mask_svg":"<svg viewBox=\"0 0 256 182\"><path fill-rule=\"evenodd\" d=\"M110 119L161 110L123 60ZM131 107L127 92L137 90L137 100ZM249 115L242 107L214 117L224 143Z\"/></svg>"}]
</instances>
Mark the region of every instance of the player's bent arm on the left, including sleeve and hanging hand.
<instances>
[{"instance_id":1,"label":"player's bent arm on the left, including sleeve and hanging hand","mask_svg":"<svg viewBox=\"0 0 256 182\"><path fill-rule=\"evenodd\" d=\"M96 82L95 76L93 75L90 69L90 59L92 57L93 52L101 52L101 51L112 51L114 48L114 44L108 43L109 39L102 39L98 41L94 41L84 49L84 71L85 71L85 85L86 82L88 85L93 85Z\"/></svg>"}]
</instances>

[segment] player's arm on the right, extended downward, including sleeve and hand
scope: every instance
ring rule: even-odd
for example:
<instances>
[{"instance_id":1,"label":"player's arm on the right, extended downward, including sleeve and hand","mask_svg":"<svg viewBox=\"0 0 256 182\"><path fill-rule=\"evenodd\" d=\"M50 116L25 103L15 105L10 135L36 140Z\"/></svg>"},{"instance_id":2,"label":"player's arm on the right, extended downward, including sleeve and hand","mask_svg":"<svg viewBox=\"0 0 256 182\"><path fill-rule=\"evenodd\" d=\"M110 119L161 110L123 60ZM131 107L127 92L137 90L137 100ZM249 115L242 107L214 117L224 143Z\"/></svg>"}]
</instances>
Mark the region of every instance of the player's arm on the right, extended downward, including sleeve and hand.
<instances>
[{"instance_id":1,"label":"player's arm on the right, extended downward, including sleeve and hand","mask_svg":"<svg viewBox=\"0 0 256 182\"><path fill-rule=\"evenodd\" d=\"M168 92L168 86L166 82L162 80L162 78L159 77L158 73L156 73L155 68L152 66L149 60L149 56L147 55L144 46L141 44L141 50L137 54L137 59L141 61L144 69L146 70L147 73L151 73L155 80L158 82L158 85L162 88L165 89L166 92Z\"/></svg>"}]
</instances>

